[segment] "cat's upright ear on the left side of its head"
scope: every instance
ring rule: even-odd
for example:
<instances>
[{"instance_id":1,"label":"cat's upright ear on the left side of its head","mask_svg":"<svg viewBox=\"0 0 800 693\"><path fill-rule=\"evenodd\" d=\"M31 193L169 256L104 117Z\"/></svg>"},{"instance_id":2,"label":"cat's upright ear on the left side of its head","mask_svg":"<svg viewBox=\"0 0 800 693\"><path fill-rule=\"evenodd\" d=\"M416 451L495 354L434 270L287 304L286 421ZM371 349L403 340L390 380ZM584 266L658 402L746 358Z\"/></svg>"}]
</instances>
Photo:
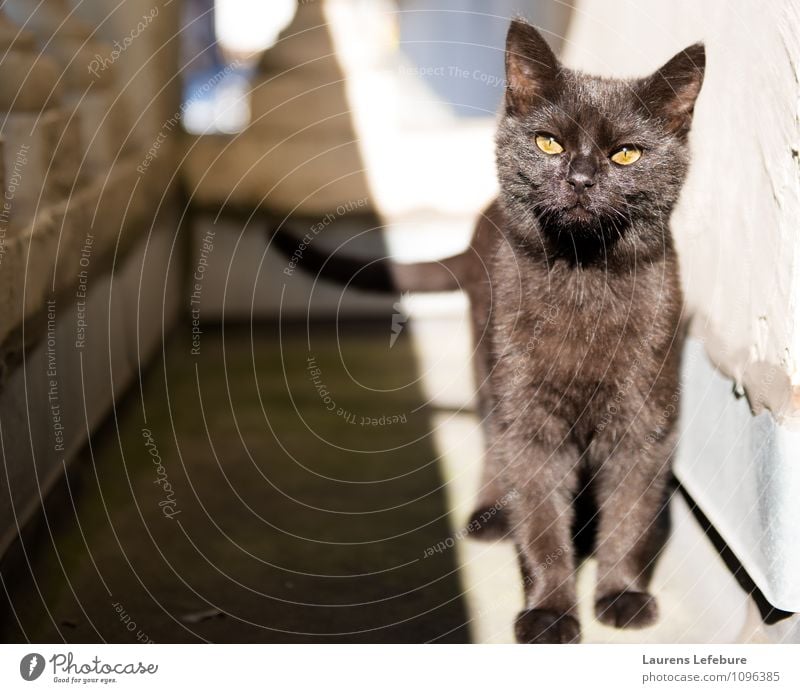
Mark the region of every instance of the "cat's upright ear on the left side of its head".
<instances>
[{"instance_id":1,"label":"cat's upright ear on the left side of its head","mask_svg":"<svg viewBox=\"0 0 800 693\"><path fill-rule=\"evenodd\" d=\"M555 54L534 27L514 19L506 37L506 111L524 115L547 98L558 75Z\"/></svg>"}]
</instances>

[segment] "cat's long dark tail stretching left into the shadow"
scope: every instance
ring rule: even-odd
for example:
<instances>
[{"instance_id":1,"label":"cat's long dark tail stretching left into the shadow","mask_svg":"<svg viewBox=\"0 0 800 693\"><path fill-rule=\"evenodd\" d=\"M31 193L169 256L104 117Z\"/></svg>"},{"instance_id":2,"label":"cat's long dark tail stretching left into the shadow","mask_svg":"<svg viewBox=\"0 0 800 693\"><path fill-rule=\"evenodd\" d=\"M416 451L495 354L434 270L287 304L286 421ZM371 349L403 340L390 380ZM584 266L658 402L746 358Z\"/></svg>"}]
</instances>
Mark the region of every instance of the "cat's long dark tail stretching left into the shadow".
<instances>
[{"instance_id":1,"label":"cat's long dark tail stretching left into the shadow","mask_svg":"<svg viewBox=\"0 0 800 693\"><path fill-rule=\"evenodd\" d=\"M289 267L336 284L376 293L458 291L467 271L467 252L434 262L399 263L328 253L297 238L283 225L268 230L270 247L289 261Z\"/></svg>"}]
</instances>

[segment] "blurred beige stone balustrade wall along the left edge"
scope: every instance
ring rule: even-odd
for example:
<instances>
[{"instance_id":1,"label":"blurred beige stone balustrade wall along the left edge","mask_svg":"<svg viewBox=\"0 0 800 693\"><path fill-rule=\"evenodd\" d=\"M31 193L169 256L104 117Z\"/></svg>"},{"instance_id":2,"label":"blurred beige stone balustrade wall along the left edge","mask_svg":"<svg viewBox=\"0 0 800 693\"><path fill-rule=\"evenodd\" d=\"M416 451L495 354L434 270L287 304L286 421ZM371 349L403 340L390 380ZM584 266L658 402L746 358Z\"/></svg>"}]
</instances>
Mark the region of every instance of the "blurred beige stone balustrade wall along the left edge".
<instances>
[{"instance_id":1,"label":"blurred beige stone balustrade wall along the left edge","mask_svg":"<svg viewBox=\"0 0 800 693\"><path fill-rule=\"evenodd\" d=\"M176 315L179 4L0 10L0 554Z\"/></svg>"}]
</instances>

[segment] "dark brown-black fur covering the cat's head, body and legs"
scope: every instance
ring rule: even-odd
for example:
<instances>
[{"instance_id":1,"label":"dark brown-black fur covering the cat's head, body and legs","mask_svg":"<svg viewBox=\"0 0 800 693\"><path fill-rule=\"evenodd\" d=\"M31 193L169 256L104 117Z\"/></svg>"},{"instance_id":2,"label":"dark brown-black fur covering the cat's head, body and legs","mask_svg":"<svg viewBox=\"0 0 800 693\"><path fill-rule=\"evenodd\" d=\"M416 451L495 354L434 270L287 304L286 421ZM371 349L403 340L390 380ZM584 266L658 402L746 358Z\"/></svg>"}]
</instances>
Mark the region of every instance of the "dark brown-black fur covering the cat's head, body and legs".
<instances>
[{"instance_id":1,"label":"dark brown-black fur covering the cat's head, body and legs","mask_svg":"<svg viewBox=\"0 0 800 693\"><path fill-rule=\"evenodd\" d=\"M447 269L471 301L488 422L476 515L501 507L485 531L510 531L517 546L520 642L580 639L581 492L598 511L597 617L616 627L657 618L647 587L665 539L682 341L669 218L704 63L695 45L648 78L600 79L560 66L524 22L509 30L501 195ZM542 153L537 132L565 152ZM609 158L624 144L643 150L627 167Z\"/></svg>"}]
</instances>

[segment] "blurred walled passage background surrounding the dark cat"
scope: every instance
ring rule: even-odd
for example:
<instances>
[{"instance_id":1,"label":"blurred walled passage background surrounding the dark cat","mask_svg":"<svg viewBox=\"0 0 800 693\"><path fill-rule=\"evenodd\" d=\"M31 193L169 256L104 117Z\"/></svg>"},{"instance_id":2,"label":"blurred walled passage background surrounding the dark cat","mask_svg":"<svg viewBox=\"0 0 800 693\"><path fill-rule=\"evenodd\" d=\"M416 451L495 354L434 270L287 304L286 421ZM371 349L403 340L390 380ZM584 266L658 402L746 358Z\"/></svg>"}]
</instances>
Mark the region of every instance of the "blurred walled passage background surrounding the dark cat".
<instances>
[{"instance_id":1,"label":"blurred walled passage background surrounding the dark cat","mask_svg":"<svg viewBox=\"0 0 800 693\"><path fill-rule=\"evenodd\" d=\"M585 639L800 642L791 0L0 4L0 639L513 640L513 548L461 531L465 298L338 286L273 238L463 249L514 16L593 73L708 53L662 618L596 623L589 560Z\"/></svg>"}]
</instances>

